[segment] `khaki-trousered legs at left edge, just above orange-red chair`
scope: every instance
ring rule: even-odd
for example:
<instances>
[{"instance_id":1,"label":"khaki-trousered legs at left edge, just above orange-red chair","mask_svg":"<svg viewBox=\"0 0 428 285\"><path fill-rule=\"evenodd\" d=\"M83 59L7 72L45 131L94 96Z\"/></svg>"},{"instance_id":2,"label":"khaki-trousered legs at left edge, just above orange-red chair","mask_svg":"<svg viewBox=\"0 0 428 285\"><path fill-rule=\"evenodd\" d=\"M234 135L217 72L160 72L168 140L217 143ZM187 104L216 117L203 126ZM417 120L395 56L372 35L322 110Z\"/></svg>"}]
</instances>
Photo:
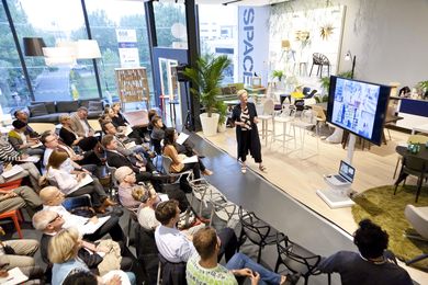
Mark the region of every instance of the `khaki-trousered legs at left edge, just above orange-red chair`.
<instances>
[{"instance_id":1,"label":"khaki-trousered legs at left edge, just above orange-red chair","mask_svg":"<svg viewBox=\"0 0 428 285\"><path fill-rule=\"evenodd\" d=\"M42 201L34 190L29 186L20 186L13 190L0 191L0 214L23 207L27 207L32 212L42 208Z\"/></svg>"}]
</instances>

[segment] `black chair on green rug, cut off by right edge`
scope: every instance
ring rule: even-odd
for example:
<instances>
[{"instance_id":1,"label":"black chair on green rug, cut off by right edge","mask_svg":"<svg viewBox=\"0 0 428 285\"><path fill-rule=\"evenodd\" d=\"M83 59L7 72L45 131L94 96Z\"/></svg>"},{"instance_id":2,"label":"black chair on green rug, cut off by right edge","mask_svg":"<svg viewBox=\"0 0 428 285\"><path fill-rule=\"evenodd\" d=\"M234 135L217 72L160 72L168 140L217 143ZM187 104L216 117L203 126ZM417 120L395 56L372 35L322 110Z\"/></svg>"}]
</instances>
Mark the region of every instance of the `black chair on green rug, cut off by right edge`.
<instances>
[{"instance_id":1,"label":"black chair on green rug, cut off by right edge","mask_svg":"<svg viewBox=\"0 0 428 285\"><path fill-rule=\"evenodd\" d=\"M420 189L423 187L424 179L428 179L428 162L425 159L415 157L410 153L404 157L402 162L402 169L398 174L398 179L394 183L395 184L394 195L397 192L398 184L402 181L404 181L403 186L405 186L406 178L408 175L414 175L418 178L417 192L415 198L415 203L417 203L420 194Z\"/></svg>"}]
</instances>

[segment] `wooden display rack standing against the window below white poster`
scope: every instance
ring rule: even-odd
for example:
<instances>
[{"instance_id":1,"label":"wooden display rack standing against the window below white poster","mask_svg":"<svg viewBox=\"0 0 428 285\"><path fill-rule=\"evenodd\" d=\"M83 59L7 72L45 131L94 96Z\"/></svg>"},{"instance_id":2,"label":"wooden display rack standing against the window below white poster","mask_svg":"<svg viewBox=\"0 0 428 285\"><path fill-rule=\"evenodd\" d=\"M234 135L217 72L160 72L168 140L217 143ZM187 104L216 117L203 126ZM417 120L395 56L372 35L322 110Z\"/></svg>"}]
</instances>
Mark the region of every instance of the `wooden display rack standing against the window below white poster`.
<instances>
[{"instance_id":1,"label":"wooden display rack standing against the window below white poster","mask_svg":"<svg viewBox=\"0 0 428 285\"><path fill-rule=\"evenodd\" d=\"M123 109L125 103L146 102L149 109L150 92L148 89L147 70L145 67L115 68L117 93Z\"/></svg>"}]
</instances>

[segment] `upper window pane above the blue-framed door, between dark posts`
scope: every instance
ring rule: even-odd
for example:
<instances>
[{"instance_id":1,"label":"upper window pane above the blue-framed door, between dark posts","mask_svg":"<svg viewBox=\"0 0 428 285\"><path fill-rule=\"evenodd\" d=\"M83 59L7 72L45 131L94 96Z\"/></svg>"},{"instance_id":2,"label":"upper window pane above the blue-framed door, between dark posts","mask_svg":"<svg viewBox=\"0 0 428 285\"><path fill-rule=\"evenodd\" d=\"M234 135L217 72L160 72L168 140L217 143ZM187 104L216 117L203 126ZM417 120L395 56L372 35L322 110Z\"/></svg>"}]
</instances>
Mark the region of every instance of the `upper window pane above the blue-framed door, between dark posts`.
<instances>
[{"instance_id":1,"label":"upper window pane above the blue-framed door, between dark posts","mask_svg":"<svg viewBox=\"0 0 428 285\"><path fill-rule=\"evenodd\" d=\"M154 2L154 11L158 46L187 48L184 5Z\"/></svg>"}]
</instances>

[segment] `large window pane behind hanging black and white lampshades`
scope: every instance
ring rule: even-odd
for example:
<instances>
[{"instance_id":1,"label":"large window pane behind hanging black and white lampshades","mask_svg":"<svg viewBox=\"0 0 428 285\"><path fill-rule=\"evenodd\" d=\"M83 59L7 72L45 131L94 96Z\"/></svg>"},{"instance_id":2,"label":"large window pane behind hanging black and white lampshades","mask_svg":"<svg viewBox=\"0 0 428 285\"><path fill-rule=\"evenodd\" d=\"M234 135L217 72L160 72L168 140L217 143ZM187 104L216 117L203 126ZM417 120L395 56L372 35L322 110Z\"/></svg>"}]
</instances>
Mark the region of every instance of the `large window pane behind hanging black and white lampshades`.
<instances>
[{"instance_id":1,"label":"large window pane behind hanging black and white lampshades","mask_svg":"<svg viewBox=\"0 0 428 285\"><path fill-rule=\"evenodd\" d=\"M88 38L80 1L9 0L8 3L21 7L25 15L13 15L19 38L43 37L47 47ZM46 65L43 57L25 57L25 64L35 101L99 98L91 60Z\"/></svg>"}]
</instances>

